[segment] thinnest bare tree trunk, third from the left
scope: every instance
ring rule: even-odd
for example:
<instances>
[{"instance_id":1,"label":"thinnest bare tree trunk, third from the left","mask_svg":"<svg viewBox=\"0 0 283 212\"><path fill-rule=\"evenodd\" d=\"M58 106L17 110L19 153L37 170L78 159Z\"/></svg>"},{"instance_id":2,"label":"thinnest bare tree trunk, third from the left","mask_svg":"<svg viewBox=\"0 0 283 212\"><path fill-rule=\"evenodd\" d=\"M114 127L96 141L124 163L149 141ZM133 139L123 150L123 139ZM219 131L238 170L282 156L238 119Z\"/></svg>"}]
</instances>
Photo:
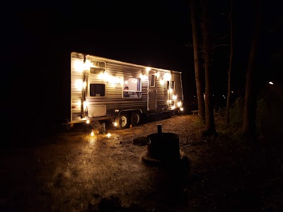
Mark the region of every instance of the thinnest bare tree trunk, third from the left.
<instances>
[{"instance_id":1,"label":"thinnest bare tree trunk, third from the left","mask_svg":"<svg viewBox=\"0 0 283 212\"><path fill-rule=\"evenodd\" d=\"M231 11L229 14L230 19L230 42L231 42L231 53L230 53L230 62L228 69L228 89L227 89L227 101L226 101L226 125L229 124L229 110L231 104L231 70L232 70L232 61L233 61L233 22L232 22L232 11L233 11L233 1L230 1Z\"/></svg>"}]
</instances>

